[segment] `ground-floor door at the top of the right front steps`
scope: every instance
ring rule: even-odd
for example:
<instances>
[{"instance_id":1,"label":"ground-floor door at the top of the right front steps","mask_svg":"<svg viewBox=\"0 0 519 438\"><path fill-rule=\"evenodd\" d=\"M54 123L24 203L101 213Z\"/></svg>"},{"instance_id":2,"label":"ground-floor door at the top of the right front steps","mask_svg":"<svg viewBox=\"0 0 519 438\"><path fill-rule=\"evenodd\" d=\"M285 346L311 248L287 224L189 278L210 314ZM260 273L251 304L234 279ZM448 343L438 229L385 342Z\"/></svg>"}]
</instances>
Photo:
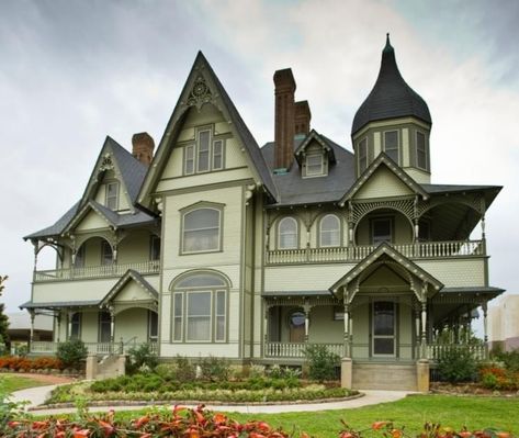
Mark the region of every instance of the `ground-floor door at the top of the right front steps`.
<instances>
[{"instance_id":1,"label":"ground-floor door at the top of the right front steps","mask_svg":"<svg viewBox=\"0 0 519 438\"><path fill-rule=\"evenodd\" d=\"M396 305L392 301L375 301L372 308L372 352L374 357L395 357Z\"/></svg>"}]
</instances>

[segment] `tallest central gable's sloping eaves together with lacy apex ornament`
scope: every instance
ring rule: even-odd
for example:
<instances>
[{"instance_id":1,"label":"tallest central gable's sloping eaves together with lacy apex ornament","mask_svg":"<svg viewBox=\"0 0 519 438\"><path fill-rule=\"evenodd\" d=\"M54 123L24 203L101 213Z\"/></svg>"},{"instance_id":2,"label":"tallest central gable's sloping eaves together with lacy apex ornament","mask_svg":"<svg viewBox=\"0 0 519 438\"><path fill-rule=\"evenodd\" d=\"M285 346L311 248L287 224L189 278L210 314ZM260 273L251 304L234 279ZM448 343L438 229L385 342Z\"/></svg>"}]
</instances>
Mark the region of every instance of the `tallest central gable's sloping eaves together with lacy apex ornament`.
<instances>
[{"instance_id":1,"label":"tallest central gable's sloping eaves together with lacy apex ornament","mask_svg":"<svg viewBox=\"0 0 519 438\"><path fill-rule=\"evenodd\" d=\"M219 113L218 116L222 117L219 122L221 125L223 126L225 124L225 130L228 130L233 138L239 142L239 148L237 150L244 153L246 164L252 171L256 183L262 186L270 196L277 199L272 176L256 139L252 137L252 134L239 115L212 67L203 54L199 52L171 119L166 127L162 139L160 141L150 170L138 194L137 202L140 205L153 210L150 194L157 190L157 186L165 168L168 166L176 143L185 141L185 138L181 137L181 131L184 123L189 122L190 114L196 111L203 115L204 111L211 111L211 106L214 106ZM215 124L215 127L217 128L217 124ZM177 164L177 166L182 165Z\"/></svg>"}]
</instances>

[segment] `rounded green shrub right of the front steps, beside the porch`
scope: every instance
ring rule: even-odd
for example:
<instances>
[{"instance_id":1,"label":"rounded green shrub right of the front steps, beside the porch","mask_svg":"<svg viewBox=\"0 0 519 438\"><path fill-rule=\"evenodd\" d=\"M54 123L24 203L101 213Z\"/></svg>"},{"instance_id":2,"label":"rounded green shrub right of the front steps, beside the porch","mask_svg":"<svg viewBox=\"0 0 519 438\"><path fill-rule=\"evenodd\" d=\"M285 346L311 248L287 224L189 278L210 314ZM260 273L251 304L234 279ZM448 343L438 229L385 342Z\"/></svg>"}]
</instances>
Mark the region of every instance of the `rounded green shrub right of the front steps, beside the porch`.
<instances>
[{"instance_id":1,"label":"rounded green shrub right of the front steps, beside the porch","mask_svg":"<svg viewBox=\"0 0 519 438\"><path fill-rule=\"evenodd\" d=\"M438 360L438 371L443 381L450 383L476 380L478 361L469 348L445 349Z\"/></svg>"}]
</instances>

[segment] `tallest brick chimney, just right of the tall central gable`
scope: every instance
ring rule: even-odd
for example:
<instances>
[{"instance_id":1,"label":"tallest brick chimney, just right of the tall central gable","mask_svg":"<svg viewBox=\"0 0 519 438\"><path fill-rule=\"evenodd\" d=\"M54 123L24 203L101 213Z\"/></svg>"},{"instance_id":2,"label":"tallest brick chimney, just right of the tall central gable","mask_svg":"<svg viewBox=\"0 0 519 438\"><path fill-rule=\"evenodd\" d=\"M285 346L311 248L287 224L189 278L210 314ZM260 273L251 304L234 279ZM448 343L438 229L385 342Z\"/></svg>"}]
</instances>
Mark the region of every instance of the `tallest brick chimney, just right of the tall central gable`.
<instances>
[{"instance_id":1,"label":"tallest brick chimney, just right of the tall central gable","mask_svg":"<svg viewBox=\"0 0 519 438\"><path fill-rule=\"evenodd\" d=\"M294 154L295 80L290 68L274 72L274 169L289 169Z\"/></svg>"}]
</instances>

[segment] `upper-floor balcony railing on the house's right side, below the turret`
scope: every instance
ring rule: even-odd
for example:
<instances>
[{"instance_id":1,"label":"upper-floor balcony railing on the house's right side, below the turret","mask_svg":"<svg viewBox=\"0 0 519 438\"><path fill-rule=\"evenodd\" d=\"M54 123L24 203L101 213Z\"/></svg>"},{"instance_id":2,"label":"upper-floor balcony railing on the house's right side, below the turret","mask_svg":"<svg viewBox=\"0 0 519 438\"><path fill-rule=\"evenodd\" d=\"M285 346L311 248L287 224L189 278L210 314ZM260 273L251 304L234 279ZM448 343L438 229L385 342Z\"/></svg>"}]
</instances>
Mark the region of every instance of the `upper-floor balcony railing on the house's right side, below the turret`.
<instances>
[{"instance_id":1,"label":"upper-floor balcony railing on the house's right side, below the turret","mask_svg":"<svg viewBox=\"0 0 519 438\"><path fill-rule=\"evenodd\" d=\"M392 247L410 259L485 256L483 240L420 242L392 245ZM277 249L267 251L267 263L359 261L368 257L375 248L374 245L357 245L332 248Z\"/></svg>"}]
</instances>

